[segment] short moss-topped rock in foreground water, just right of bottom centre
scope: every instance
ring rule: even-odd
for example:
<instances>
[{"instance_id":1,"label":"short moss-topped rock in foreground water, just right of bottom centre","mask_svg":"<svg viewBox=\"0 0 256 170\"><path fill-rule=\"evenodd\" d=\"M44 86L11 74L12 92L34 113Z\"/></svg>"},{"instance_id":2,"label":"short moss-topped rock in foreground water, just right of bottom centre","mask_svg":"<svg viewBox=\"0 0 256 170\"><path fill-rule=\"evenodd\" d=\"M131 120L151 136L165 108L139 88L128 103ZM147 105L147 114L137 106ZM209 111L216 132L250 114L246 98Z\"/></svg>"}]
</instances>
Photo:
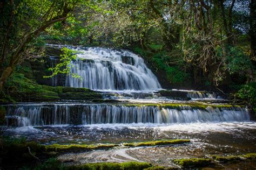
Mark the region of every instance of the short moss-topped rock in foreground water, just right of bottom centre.
<instances>
[{"instance_id":1,"label":"short moss-topped rock in foreground water, just right of bottom centre","mask_svg":"<svg viewBox=\"0 0 256 170\"><path fill-rule=\"evenodd\" d=\"M190 159L174 159L174 164L181 167L203 167L211 163L211 159L190 158Z\"/></svg>"}]
</instances>

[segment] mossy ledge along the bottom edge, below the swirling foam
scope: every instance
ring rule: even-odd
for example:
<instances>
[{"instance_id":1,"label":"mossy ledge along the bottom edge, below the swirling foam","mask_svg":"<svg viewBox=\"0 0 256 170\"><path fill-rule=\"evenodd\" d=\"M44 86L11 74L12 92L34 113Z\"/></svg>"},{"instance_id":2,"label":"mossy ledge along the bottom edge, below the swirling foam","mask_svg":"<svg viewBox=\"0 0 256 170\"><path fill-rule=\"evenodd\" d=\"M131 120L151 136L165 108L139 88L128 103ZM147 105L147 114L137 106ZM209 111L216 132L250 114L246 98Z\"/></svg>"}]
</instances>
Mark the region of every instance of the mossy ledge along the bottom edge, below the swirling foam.
<instances>
[{"instance_id":1,"label":"mossy ledge along the bottom edge, below the swirling foam","mask_svg":"<svg viewBox=\"0 0 256 170\"><path fill-rule=\"evenodd\" d=\"M124 162L124 163L116 163L116 162L103 162L103 163L91 163L84 165L73 165L66 167L66 169L100 169L100 170L108 170L108 169L134 169L140 170L151 167L152 165L146 162Z\"/></svg>"}]
</instances>

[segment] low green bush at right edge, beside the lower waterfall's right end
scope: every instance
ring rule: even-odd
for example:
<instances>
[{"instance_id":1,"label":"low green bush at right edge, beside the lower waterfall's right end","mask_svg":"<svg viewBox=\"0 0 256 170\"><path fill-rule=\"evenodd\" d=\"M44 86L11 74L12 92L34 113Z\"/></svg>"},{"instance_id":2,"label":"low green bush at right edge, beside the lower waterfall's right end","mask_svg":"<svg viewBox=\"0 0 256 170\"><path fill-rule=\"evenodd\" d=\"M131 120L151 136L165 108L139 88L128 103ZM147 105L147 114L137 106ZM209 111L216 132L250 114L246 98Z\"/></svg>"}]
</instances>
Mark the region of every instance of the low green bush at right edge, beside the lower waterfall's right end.
<instances>
[{"instance_id":1,"label":"low green bush at right edge, beside the lower waterfall's right end","mask_svg":"<svg viewBox=\"0 0 256 170\"><path fill-rule=\"evenodd\" d=\"M245 84L237 93L238 97L247 102L256 113L256 82Z\"/></svg>"}]
</instances>

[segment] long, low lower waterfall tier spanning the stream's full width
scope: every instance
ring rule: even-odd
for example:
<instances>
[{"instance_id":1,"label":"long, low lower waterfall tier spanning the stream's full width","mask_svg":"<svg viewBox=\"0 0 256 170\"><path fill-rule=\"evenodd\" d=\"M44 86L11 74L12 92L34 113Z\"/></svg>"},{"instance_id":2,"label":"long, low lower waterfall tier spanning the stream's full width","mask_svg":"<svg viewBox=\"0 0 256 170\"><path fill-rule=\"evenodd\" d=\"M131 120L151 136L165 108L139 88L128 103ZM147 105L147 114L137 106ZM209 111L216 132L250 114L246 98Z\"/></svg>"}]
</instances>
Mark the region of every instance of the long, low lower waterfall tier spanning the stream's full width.
<instances>
[{"instance_id":1,"label":"long, low lower waterfall tier spanning the stream's full width","mask_svg":"<svg viewBox=\"0 0 256 170\"><path fill-rule=\"evenodd\" d=\"M6 105L11 126L116 123L192 123L250 121L241 107L159 107L110 104L26 104Z\"/></svg>"}]
</instances>

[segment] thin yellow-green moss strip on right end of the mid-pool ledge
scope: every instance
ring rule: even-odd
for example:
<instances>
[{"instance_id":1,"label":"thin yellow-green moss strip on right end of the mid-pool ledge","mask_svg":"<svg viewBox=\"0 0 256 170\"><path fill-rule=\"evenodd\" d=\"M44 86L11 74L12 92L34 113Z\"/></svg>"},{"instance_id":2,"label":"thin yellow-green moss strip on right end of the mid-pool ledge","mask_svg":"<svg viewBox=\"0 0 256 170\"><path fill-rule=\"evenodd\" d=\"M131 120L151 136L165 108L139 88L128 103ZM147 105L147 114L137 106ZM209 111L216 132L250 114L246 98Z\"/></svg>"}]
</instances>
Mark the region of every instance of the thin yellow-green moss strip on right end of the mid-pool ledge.
<instances>
[{"instance_id":1,"label":"thin yellow-green moss strip on right end of the mid-pool ledge","mask_svg":"<svg viewBox=\"0 0 256 170\"><path fill-rule=\"evenodd\" d=\"M156 145L174 145L174 144L184 144L190 143L189 139L175 139L175 140L156 140L156 141L146 141L140 143L125 143L124 146L156 146Z\"/></svg>"}]
</instances>

